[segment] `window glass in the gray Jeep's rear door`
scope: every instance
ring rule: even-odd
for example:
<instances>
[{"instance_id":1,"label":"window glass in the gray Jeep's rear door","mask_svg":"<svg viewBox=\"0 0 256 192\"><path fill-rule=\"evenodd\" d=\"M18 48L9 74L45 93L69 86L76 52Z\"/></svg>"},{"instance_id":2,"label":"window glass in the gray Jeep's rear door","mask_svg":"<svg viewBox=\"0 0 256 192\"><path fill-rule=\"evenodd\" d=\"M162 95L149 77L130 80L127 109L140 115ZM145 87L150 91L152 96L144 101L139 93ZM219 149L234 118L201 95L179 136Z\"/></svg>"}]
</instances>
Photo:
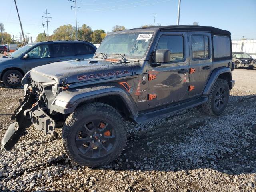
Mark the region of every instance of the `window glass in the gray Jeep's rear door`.
<instances>
[{"instance_id":1,"label":"window glass in the gray Jeep's rear door","mask_svg":"<svg viewBox=\"0 0 256 192\"><path fill-rule=\"evenodd\" d=\"M209 57L209 38L206 35L192 35L192 58L202 59Z\"/></svg>"}]
</instances>

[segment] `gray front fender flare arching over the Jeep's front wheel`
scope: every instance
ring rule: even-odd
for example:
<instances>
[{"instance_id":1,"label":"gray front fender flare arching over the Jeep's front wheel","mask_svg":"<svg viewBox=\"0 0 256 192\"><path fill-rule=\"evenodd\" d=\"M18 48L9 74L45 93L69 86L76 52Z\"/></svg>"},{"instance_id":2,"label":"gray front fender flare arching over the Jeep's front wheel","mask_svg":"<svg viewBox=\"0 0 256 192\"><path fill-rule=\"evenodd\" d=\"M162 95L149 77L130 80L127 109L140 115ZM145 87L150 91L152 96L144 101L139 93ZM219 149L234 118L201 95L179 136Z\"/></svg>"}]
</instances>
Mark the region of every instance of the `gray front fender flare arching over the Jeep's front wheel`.
<instances>
[{"instance_id":1,"label":"gray front fender flare arching over the Jeep's front wheel","mask_svg":"<svg viewBox=\"0 0 256 192\"><path fill-rule=\"evenodd\" d=\"M122 98L130 114L134 117L138 115L138 108L135 102L133 101L132 96L130 96L130 94L127 91L116 86L94 86L88 88L77 88L62 91L60 92L60 94L56 96L55 100L60 100L67 103L76 102L76 104L72 108L61 108L59 106L54 105L53 102L51 105L51 109L62 114L69 114L72 113L75 110L75 108L82 102L110 95L117 95L120 98Z\"/></svg>"}]
</instances>

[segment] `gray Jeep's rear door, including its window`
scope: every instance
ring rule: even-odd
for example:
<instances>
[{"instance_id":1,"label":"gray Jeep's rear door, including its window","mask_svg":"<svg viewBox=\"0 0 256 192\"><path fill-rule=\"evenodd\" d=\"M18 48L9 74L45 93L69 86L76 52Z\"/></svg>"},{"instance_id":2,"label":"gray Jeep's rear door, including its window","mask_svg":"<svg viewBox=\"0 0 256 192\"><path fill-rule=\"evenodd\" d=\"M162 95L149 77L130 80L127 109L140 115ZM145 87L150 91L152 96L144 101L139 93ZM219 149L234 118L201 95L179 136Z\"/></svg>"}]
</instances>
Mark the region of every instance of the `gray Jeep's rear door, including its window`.
<instances>
[{"instance_id":1,"label":"gray Jeep's rear door, including its window","mask_svg":"<svg viewBox=\"0 0 256 192\"><path fill-rule=\"evenodd\" d=\"M189 32L190 74L189 85L194 89L189 96L202 94L206 82L212 71L212 44L210 33Z\"/></svg>"}]
</instances>

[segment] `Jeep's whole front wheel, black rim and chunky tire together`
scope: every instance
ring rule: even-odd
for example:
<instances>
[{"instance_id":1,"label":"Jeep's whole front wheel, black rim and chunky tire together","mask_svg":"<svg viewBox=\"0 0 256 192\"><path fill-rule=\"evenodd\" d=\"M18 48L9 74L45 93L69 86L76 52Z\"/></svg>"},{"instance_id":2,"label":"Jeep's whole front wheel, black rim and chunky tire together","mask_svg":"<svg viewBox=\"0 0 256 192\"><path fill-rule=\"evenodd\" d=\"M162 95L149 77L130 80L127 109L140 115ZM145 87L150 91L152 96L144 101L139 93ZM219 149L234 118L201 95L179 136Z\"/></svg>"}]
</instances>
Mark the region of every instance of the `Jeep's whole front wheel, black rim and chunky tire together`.
<instances>
[{"instance_id":1,"label":"Jeep's whole front wheel, black rim and chunky tire together","mask_svg":"<svg viewBox=\"0 0 256 192\"><path fill-rule=\"evenodd\" d=\"M126 143L122 116L111 106L91 103L77 108L62 129L62 146L81 166L96 167L115 160Z\"/></svg>"}]
</instances>

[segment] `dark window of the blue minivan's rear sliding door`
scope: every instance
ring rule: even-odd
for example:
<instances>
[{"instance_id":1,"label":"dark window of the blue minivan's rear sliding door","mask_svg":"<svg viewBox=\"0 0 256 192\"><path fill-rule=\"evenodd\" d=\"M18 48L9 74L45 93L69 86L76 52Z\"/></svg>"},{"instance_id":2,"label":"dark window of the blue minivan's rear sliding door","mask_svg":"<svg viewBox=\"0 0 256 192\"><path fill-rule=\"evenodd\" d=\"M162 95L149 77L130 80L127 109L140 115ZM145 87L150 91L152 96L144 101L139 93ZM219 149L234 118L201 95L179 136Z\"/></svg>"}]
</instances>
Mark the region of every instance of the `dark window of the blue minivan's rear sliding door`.
<instances>
[{"instance_id":1,"label":"dark window of the blue minivan's rear sliding door","mask_svg":"<svg viewBox=\"0 0 256 192\"><path fill-rule=\"evenodd\" d=\"M75 55L73 44L71 43L52 44L52 51L54 57L65 57Z\"/></svg>"}]
</instances>

